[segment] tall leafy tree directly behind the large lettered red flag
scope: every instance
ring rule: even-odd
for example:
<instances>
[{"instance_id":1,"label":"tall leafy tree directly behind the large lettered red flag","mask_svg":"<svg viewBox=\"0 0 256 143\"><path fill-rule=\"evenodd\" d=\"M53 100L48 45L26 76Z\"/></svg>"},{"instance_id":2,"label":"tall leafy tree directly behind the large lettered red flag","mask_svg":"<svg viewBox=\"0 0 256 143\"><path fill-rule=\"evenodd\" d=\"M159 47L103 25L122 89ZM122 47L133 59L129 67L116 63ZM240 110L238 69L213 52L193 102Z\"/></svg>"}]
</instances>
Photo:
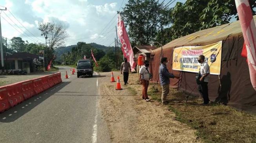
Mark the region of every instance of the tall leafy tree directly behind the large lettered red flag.
<instances>
[{"instance_id":1,"label":"tall leafy tree directly behind the large lettered red flag","mask_svg":"<svg viewBox=\"0 0 256 143\"><path fill-rule=\"evenodd\" d=\"M163 9L164 8L164 9ZM159 29L169 24L167 9L158 0L129 0L122 11L133 45L149 45Z\"/></svg>"}]
</instances>

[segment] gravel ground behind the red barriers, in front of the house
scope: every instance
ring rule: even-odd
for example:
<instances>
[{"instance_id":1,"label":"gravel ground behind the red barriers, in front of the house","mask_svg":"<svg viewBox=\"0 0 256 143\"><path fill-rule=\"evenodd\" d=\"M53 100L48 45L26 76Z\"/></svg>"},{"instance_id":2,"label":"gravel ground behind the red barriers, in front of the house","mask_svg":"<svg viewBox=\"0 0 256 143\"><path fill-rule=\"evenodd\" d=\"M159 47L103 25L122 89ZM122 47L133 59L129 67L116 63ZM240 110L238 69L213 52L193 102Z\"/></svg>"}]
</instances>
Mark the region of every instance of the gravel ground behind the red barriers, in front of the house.
<instances>
[{"instance_id":1,"label":"gravel ground behind the red barriers, in front of the house","mask_svg":"<svg viewBox=\"0 0 256 143\"><path fill-rule=\"evenodd\" d=\"M0 76L0 86L5 86L8 84L13 84L16 82L21 82L24 80L34 79L38 77L42 77L44 75L50 75L56 72L37 72L37 73L31 73L28 75L1 75Z\"/></svg>"}]
</instances>

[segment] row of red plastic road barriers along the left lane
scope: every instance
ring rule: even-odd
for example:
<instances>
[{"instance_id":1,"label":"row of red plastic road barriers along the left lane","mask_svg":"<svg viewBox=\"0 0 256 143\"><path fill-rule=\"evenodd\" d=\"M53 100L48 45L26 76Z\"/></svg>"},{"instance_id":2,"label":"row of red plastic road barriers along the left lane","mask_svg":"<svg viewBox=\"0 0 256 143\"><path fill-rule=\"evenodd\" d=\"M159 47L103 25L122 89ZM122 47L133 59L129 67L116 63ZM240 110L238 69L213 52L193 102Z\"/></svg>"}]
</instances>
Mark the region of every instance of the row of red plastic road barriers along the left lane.
<instances>
[{"instance_id":1,"label":"row of red plastic road barriers along the left lane","mask_svg":"<svg viewBox=\"0 0 256 143\"><path fill-rule=\"evenodd\" d=\"M0 87L0 113L62 82L61 73Z\"/></svg>"}]
</instances>

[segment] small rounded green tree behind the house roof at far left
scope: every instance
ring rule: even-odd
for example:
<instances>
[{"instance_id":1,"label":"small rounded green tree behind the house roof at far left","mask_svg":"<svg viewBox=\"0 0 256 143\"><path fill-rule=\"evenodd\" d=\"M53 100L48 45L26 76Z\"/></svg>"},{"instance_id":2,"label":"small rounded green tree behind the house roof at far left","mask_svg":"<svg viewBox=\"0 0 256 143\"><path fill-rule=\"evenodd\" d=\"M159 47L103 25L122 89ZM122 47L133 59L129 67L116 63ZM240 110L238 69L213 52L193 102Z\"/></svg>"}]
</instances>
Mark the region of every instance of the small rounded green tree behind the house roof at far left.
<instances>
[{"instance_id":1,"label":"small rounded green tree behind the house roof at far left","mask_svg":"<svg viewBox=\"0 0 256 143\"><path fill-rule=\"evenodd\" d=\"M11 48L15 52L25 52L25 41L20 37L13 37L11 39Z\"/></svg>"}]
</instances>

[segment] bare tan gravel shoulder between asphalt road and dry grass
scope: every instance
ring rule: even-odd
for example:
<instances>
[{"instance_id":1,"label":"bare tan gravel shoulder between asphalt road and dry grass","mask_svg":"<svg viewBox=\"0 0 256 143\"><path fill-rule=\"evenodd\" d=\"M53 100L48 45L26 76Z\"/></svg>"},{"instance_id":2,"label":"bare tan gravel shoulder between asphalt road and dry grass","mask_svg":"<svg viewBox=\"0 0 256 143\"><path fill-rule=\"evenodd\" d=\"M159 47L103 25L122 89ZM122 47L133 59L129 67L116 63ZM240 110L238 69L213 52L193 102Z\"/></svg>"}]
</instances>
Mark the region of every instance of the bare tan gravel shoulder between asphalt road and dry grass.
<instances>
[{"instance_id":1,"label":"bare tan gravel shoulder between asphalt road and dry grass","mask_svg":"<svg viewBox=\"0 0 256 143\"><path fill-rule=\"evenodd\" d=\"M111 73L100 73L100 107L113 143L195 143L202 142L196 130L175 120L168 107L152 100L145 102L138 87L138 74L129 75L129 85L115 90L116 82L110 82ZM134 90L136 89L136 90Z\"/></svg>"}]
</instances>

